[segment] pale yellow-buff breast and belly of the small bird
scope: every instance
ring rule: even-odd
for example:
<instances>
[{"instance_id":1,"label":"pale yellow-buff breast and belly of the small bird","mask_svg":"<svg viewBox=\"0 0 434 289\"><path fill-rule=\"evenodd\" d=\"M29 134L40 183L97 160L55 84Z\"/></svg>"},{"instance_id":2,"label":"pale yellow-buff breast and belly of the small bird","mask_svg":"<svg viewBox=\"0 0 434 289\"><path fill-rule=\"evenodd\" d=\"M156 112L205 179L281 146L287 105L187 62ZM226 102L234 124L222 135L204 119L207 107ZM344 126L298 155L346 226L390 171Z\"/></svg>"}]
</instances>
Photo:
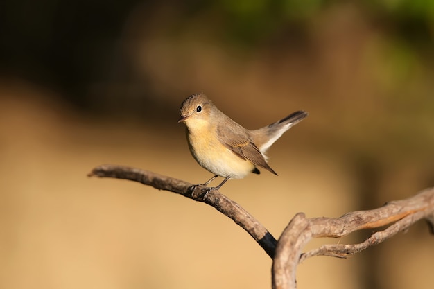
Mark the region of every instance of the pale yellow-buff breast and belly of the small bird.
<instances>
[{"instance_id":1,"label":"pale yellow-buff breast and belly of the small bird","mask_svg":"<svg viewBox=\"0 0 434 289\"><path fill-rule=\"evenodd\" d=\"M241 159L214 137L194 137L188 134L191 155L198 164L220 177L241 179L252 172L254 165Z\"/></svg>"}]
</instances>

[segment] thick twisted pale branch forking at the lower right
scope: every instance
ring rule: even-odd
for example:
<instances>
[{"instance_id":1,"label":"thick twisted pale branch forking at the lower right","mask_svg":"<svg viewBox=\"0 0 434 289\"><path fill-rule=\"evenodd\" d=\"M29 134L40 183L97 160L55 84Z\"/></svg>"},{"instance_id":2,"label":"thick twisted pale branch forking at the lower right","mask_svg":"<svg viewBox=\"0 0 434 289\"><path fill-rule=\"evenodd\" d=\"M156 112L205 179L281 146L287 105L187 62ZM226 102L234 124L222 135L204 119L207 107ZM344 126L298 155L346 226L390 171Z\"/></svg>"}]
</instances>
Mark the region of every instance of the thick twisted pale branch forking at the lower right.
<instances>
[{"instance_id":1,"label":"thick twisted pale branch forking at the lower right","mask_svg":"<svg viewBox=\"0 0 434 289\"><path fill-rule=\"evenodd\" d=\"M277 243L272 265L272 286L276 289L296 288L297 265L311 256L345 258L391 238L423 218L428 220L432 228L433 213L434 189L426 189L406 200L388 202L378 209L347 213L340 218L306 218L303 213L299 213L290 221ZM338 238L353 231L385 225L390 227L377 231L363 243L323 245L302 254L302 248L312 238Z\"/></svg>"}]
</instances>

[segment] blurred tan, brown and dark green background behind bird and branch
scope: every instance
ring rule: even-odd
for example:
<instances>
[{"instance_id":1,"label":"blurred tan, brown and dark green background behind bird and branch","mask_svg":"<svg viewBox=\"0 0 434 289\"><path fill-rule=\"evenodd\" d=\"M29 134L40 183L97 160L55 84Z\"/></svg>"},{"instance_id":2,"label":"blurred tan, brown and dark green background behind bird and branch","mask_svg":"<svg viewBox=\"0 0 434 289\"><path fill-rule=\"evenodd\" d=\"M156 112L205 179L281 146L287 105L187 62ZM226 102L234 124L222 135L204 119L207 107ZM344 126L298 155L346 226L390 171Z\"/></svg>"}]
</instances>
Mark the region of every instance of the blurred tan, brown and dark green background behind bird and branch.
<instances>
[{"instance_id":1,"label":"blurred tan, brown and dark green background behind bird and branch","mask_svg":"<svg viewBox=\"0 0 434 289\"><path fill-rule=\"evenodd\" d=\"M246 128L309 118L270 166L223 193L278 238L295 213L338 217L434 186L434 1L0 3L0 288L270 288L232 220L173 193L88 178L105 163L192 183L177 123L200 91ZM317 240L354 243L351 238ZM432 288L423 222L299 288Z\"/></svg>"}]
</instances>

